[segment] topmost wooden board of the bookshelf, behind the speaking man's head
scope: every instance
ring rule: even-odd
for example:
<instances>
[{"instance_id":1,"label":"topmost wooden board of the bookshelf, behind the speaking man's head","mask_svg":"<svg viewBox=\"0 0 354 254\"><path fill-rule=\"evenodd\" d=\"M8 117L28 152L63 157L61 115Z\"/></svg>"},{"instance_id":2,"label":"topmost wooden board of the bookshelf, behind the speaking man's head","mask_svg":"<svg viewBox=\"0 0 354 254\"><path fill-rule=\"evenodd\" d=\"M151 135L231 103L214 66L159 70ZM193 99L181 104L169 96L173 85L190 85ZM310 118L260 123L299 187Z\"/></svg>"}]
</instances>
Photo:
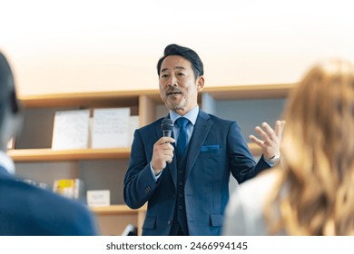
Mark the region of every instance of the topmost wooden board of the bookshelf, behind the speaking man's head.
<instances>
[{"instance_id":1,"label":"topmost wooden board of the bookshelf, behind the speaking man's head","mask_svg":"<svg viewBox=\"0 0 354 254\"><path fill-rule=\"evenodd\" d=\"M216 100L284 98L297 83L249 84L230 86L206 86L202 93L211 93ZM139 97L147 96L162 103L159 90L132 90L92 93L59 93L20 96L25 108L56 106L104 106L138 104Z\"/></svg>"}]
</instances>

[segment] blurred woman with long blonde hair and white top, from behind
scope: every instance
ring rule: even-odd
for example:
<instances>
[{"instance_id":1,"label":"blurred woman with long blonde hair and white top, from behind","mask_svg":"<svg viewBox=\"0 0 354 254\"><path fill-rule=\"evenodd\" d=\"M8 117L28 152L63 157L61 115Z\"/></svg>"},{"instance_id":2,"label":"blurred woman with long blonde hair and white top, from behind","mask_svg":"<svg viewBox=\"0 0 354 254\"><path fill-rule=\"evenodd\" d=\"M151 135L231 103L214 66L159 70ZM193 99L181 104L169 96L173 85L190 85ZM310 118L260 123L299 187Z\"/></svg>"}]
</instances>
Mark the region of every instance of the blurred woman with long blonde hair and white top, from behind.
<instances>
[{"instance_id":1,"label":"blurred woman with long blonde hair and white top, from behind","mask_svg":"<svg viewBox=\"0 0 354 254\"><path fill-rule=\"evenodd\" d=\"M353 64L314 65L283 118L280 164L235 190L223 234L354 234Z\"/></svg>"}]
</instances>

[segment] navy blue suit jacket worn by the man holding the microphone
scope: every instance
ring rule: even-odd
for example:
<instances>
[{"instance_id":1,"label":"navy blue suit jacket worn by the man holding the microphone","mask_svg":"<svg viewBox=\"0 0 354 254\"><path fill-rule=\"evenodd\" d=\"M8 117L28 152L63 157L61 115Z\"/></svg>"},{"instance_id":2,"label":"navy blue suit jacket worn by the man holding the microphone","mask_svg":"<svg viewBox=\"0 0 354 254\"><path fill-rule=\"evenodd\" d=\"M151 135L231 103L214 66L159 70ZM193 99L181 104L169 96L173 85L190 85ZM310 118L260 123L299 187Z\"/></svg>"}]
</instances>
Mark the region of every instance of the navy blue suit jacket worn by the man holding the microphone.
<instances>
[{"instance_id":1,"label":"navy blue suit jacket worn by the man holding the microphone","mask_svg":"<svg viewBox=\"0 0 354 254\"><path fill-rule=\"evenodd\" d=\"M162 119L134 132L124 200L132 209L148 202L143 235L169 235L176 203L176 156L155 182L150 169ZM185 209L190 235L220 235L232 174L241 183L270 166L256 163L237 122L199 112L187 153Z\"/></svg>"}]
</instances>

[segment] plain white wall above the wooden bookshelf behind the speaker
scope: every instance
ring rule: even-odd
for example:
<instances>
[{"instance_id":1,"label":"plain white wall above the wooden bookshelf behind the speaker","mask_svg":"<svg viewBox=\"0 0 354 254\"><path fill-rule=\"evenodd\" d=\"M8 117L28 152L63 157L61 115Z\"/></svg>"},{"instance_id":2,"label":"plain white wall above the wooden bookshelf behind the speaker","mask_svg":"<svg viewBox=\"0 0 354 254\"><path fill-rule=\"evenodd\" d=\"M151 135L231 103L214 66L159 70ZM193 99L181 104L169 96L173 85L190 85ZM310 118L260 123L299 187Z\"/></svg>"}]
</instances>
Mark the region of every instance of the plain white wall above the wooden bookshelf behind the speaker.
<instances>
[{"instance_id":1,"label":"plain white wall above the wooden bookshelf behind the speaker","mask_svg":"<svg viewBox=\"0 0 354 254\"><path fill-rule=\"evenodd\" d=\"M21 95L157 89L167 44L202 57L206 85L293 83L354 62L350 0L0 0L0 50Z\"/></svg>"}]
</instances>

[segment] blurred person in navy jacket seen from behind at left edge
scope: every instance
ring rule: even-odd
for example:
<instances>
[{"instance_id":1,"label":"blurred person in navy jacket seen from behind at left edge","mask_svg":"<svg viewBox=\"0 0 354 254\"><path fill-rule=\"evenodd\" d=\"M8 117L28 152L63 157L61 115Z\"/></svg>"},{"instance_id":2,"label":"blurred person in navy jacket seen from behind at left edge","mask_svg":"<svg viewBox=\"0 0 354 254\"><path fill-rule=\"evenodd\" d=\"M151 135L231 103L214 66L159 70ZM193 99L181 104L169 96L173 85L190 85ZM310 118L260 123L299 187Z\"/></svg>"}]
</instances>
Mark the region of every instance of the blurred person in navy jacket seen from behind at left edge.
<instances>
[{"instance_id":1,"label":"blurred person in navy jacket seen from behind at left edge","mask_svg":"<svg viewBox=\"0 0 354 254\"><path fill-rule=\"evenodd\" d=\"M0 235L96 235L93 215L83 204L15 177L14 161L5 151L20 115L14 77L0 53Z\"/></svg>"}]
</instances>

